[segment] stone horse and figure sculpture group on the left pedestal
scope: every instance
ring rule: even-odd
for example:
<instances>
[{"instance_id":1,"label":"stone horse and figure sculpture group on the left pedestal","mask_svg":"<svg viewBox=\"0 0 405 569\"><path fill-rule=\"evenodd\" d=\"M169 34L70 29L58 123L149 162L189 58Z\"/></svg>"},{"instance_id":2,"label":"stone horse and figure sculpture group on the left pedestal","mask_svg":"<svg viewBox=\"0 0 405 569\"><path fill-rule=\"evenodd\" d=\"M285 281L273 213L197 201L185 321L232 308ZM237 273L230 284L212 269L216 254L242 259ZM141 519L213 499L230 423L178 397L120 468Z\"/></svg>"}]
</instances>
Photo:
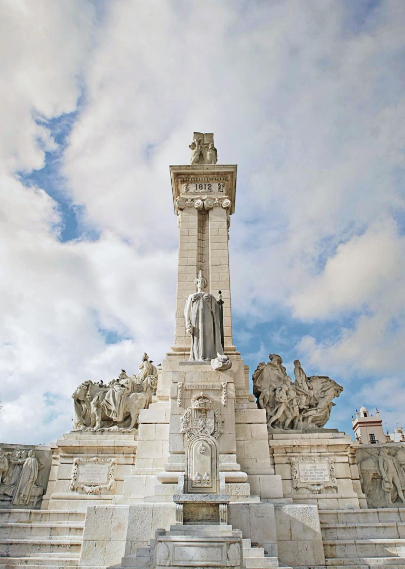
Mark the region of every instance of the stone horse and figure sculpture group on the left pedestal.
<instances>
[{"instance_id":1,"label":"stone horse and figure sculpture group on the left pedestal","mask_svg":"<svg viewBox=\"0 0 405 569\"><path fill-rule=\"evenodd\" d=\"M137 374L123 369L107 385L84 381L74 391L74 430L123 430L136 427L141 409L147 409L156 393L157 369L143 354Z\"/></svg>"}]
</instances>

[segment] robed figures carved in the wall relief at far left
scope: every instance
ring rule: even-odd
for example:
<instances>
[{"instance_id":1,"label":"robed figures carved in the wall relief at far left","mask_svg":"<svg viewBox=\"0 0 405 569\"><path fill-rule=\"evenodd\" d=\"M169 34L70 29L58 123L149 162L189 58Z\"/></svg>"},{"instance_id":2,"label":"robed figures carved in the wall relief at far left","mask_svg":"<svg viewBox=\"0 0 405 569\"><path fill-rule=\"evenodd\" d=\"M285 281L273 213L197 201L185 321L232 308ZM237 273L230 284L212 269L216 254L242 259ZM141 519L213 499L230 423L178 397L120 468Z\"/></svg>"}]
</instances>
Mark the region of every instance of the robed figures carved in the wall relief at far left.
<instances>
[{"instance_id":1,"label":"robed figures carved in the wall relief at far left","mask_svg":"<svg viewBox=\"0 0 405 569\"><path fill-rule=\"evenodd\" d=\"M31 449L6 451L0 447L0 495L2 501L10 500L14 506L35 508L43 494L43 487L36 485L44 465Z\"/></svg>"}]
</instances>

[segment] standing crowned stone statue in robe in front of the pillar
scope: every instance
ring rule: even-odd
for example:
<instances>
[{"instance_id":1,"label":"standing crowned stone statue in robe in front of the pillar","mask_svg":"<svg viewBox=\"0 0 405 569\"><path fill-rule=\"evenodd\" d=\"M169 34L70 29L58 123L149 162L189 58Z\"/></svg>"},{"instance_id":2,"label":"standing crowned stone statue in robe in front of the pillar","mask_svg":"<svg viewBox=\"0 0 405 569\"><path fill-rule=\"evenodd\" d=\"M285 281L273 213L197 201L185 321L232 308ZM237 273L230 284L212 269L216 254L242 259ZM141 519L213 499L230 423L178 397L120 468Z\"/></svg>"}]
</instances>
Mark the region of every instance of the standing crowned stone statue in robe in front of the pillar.
<instances>
[{"instance_id":1,"label":"standing crowned stone statue in robe in front of the pillar","mask_svg":"<svg viewBox=\"0 0 405 569\"><path fill-rule=\"evenodd\" d=\"M186 332L191 336L190 361L211 361L213 369L229 369L232 362L224 354L219 323L219 308L215 296L203 292L207 281L202 271L194 279L197 292L189 295L184 316Z\"/></svg>"}]
</instances>

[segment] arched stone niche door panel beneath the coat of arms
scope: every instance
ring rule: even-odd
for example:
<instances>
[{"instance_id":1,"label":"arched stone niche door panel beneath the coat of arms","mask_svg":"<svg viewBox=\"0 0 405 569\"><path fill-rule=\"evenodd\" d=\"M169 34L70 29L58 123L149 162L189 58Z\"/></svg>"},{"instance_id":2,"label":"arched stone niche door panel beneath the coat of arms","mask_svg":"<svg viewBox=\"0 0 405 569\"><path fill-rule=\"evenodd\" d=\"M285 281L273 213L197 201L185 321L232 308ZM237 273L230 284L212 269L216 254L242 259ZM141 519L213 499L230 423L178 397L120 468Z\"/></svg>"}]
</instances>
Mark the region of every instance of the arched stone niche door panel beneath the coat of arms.
<instances>
[{"instance_id":1,"label":"arched stone niche door panel beneath the coat of arms","mask_svg":"<svg viewBox=\"0 0 405 569\"><path fill-rule=\"evenodd\" d=\"M187 493L218 494L218 443L209 435L197 435L187 450Z\"/></svg>"}]
</instances>

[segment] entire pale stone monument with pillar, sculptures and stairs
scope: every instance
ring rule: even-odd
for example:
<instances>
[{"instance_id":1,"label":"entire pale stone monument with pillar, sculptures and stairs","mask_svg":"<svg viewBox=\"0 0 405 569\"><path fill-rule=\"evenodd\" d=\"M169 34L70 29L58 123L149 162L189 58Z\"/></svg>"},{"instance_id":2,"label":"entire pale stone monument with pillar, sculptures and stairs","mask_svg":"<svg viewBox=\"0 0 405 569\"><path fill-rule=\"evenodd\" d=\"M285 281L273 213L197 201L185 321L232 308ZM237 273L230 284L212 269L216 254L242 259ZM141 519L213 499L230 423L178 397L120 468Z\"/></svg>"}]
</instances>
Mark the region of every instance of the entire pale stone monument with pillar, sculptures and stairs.
<instances>
[{"instance_id":1,"label":"entire pale stone monument with pillar, sculptures and stairs","mask_svg":"<svg viewBox=\"0 0 405 569\"><path fill-rule=\"evenodd\" d=\"M403 449L368 455L325 428L343 387L298 360L293 381L270 354L250 393L232 337L237 167L218 164L212 133L189 146L191 163L170 166L173 345L161 365L144 353L137 373L78 385L47 484L37 448L2 446L0 500L16 505L0 510L4 566L404 567Z\"/></svg>"}]
</instances>

